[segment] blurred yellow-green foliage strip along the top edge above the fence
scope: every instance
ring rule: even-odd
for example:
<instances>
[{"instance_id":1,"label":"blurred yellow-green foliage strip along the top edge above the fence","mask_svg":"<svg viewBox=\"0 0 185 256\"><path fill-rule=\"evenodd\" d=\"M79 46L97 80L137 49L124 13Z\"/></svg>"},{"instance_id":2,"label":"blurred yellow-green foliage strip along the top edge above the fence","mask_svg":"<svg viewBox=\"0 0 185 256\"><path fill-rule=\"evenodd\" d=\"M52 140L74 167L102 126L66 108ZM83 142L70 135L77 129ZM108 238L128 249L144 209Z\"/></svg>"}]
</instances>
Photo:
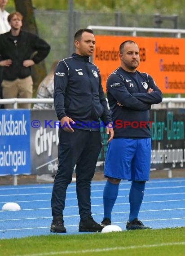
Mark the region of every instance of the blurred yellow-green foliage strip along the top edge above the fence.
<instances>
[{"instance_id":1,"label":"blurred yellow-green foliage strip along the top edge above the fence","mask_svg":"<svg viewBox=\"0 0 185 256\"><path fill-rule=\"evenodd\" d=\"M22 0L26 1L26 0ZM67 0L32 0L36 9L68 9ZM74 0L75 10L97 10L103 12L137 13L137 14L185 14L184 0ZM9 0L8 6L13 6Z\"/></svg>"}]
</instances>

